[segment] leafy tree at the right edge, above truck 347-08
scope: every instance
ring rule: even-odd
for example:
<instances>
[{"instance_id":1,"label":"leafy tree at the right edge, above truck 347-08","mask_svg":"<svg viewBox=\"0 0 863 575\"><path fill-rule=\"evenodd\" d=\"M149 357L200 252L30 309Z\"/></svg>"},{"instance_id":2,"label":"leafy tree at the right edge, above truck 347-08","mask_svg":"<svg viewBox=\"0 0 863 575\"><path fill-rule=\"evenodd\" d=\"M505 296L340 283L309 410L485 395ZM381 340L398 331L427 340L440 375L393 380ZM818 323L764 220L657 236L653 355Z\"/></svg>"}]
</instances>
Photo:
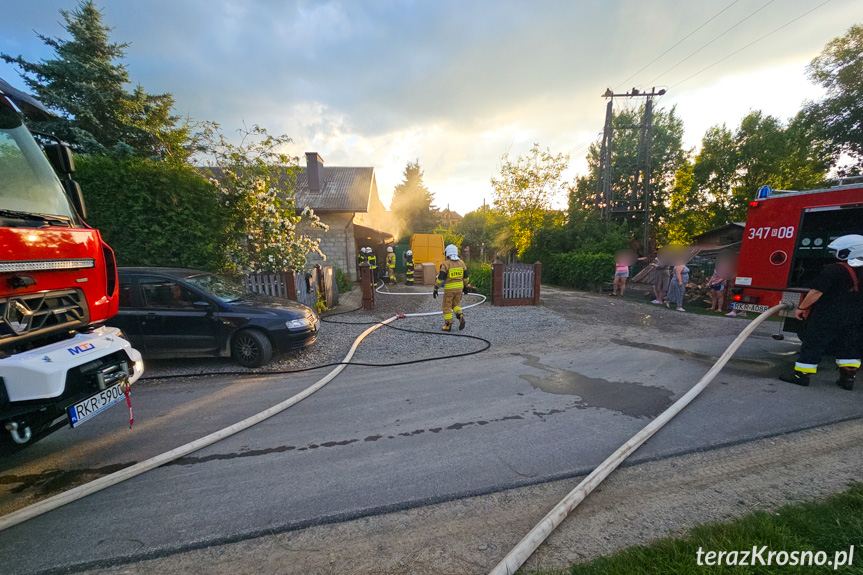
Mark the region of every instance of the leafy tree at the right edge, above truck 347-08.
<instances>
[{"instance_id":1,"label":"leafy tree at the right edge, above truck 347-08","mask_svg":"<svg viewBox=\"0 0 863 575\"><path fill-rule=\"evenodd\" d=\"M848 172L863 172L863 24L831 40L807 68L809 78L827 89L820 102L804 108L809 126L833 154L856 162ZM845 175L840 170L840 175Z\"/></svg>"}]
</instances>

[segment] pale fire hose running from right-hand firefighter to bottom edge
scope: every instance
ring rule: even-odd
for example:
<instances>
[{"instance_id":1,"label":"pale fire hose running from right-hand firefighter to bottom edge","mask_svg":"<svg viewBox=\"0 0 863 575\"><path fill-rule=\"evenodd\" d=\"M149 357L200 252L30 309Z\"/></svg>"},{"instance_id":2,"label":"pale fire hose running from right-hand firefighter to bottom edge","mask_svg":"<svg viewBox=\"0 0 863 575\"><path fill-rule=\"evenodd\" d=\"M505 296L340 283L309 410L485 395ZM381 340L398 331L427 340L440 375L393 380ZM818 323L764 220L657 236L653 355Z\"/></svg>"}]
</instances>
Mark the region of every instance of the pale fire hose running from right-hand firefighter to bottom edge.
<instances>
[{"instance_id":1,"label":"pale fire hose running from right-hand firefighter to bottom edge","mask_svg":"<svg viewBox=\"0 0 863 575\"><path fill-rule=\"evenodd\" d=\"M645 441L650 439L654 433L662 429L666 423L671 421L675 415L683 411L684 407L689 405L693 399L698 397L698 395L704 391L704 388L707 387L707 385L713 381L713 378L716 377L723 367L725 367L725 364L728 363L728 360L731 359L734 352L743 345L746 338L752 335L755 328L761 325L761 323L771 315L790 308L791 306L789 304L782 303L768 309L752 320L752 323L740 332L740 335L731 342L731 345L728 346L725 353L719 357L716 363L713 364L713 367L704 374L704 377L702 377L701 380L692 387L692 389L686 392L683 397L675 401L671 407L659 414L656 419L648 423L641 431L633 435L629 441L621 445L617 451L612 453L608 459L603 461L599 467L594 469L590 475L585 477L581 483L575 487L575 489L570 491L566 497L560 501L560 503L555 505L554 508L549 511L548 514L546 514L546 516L543 517L542 520L537 523L521 541L519 541L518 545L516 545L512 551L506 554L506 557L504 557L503 560L489 572L489 575L512 575L515 573L519 567L527 561L533 552L542 545L542 542L551 535L552 531L554 531L557 526L560 525L570 513L572 513L579 503L584 501L585 497L590 495L590 493L600 483L602 483L612 471L617 469L627 457L632 455L636 449L641 447Z\"/></svg>"}]
</instances>

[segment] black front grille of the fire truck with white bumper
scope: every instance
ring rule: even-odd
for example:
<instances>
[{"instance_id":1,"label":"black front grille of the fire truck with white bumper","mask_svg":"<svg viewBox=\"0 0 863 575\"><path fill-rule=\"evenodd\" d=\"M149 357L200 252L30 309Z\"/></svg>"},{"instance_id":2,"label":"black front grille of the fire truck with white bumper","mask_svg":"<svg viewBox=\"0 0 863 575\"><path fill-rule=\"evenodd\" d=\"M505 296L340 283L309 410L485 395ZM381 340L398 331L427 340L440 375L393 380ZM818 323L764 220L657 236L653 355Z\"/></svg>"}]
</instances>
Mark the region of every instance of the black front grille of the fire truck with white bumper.
<instances>
[{"instance_id":1,"label":"black front grille of the fire truck with white bumper","mask_svg":"<svg viewBox=\"0 0 863 575\"><path fill-rule=\"evenodd\" d=\"M56 290L0 298L0 345L90 323L81 290Z\"/></svg>"}]
</instances>

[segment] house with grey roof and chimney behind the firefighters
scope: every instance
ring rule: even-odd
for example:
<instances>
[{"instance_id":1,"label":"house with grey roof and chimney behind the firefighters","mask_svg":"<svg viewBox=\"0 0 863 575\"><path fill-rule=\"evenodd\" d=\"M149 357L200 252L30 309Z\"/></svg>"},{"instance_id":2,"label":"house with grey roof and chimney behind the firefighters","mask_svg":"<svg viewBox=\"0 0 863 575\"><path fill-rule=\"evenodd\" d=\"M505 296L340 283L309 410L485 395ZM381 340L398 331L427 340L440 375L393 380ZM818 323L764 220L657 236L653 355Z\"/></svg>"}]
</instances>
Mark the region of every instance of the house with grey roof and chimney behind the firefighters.
<instances>
[{"instance_id":1,"label":"house with grey roof and chimney behind the firefighters","mask_svg":"<svg viewBox=\"0 0 863 575\"><path fill-rule=\"evenodd\" d=\"M370 167L324 167L317 152L306 152L306 167L294 172L294 196L298 211L312 208L329 226L320 229L301 228L309 236L320 238L324 262L309 254L306 264L321 263L341 269L357 279L357 250L369 246L378 262L386 257L386 246L395 240L389 217L378 196L375 169Z\"/></svg>"}]
</instances>

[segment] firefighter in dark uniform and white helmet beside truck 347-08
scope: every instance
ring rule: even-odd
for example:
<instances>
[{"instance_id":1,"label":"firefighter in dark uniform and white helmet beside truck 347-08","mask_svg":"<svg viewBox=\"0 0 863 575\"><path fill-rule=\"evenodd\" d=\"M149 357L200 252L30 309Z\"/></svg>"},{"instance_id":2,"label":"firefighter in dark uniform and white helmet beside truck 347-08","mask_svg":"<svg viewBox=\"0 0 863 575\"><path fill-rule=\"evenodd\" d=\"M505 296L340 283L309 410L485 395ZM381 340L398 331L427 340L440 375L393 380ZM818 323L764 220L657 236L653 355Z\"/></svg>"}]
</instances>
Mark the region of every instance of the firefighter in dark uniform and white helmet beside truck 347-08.
<instances>
[{"instance_id":1,"label":"firefighter in dark uniform and white helmet beside truck 347-08","mask_svg":"<svg viewBox=\"0 0 863 575\"><path fill-rule=\"evenodd\" d=\"M830 351L836 357L839 379L836 384L852 390L860 369L860 330L863 325L863 236L846 235L833 240L827 249L837 263L828 264L812 283L796 317L806 320L803 345L794 373L779 379L796 385L809 385L822 356Z\"/></svg>"}]
</instances>

